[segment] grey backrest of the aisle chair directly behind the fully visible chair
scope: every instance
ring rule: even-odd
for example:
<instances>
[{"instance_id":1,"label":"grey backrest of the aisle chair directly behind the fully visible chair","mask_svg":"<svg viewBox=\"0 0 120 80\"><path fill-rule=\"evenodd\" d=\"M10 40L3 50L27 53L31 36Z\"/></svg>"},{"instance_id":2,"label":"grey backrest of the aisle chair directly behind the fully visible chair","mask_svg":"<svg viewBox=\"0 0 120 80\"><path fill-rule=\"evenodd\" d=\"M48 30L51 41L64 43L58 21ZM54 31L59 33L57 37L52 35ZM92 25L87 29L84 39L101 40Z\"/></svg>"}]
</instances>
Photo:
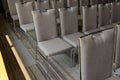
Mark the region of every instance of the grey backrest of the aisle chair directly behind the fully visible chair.
<instances>
[{"instance_id":1,"label":"grey backrest of the aisle chair directly behind the fully visible chair","mask_svg":"<svg viewBox=\"0 0 120 80\"><path fill-rule=\"evenodd\" d=\"M20 25L33 23L33 18L32 18L33 5L32 5L32 2L27 2L25 4L16 3L16 9L17 9Z\"/></svg>"}]
</instances>

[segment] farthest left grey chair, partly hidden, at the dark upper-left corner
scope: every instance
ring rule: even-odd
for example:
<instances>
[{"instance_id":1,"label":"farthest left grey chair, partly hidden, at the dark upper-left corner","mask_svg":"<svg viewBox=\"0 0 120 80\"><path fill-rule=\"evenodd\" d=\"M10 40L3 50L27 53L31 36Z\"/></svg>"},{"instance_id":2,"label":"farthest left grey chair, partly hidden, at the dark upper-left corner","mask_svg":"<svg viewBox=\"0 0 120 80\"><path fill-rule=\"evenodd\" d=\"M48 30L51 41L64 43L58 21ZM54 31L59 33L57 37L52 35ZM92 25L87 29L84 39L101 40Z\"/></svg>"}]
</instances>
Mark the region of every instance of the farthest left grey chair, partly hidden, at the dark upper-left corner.
<instances>
[{"instance_id":1,"label":"farthest left grey chair, partly hidden, at the dark upper-left corner","mask_svg":"<svg viewBox=\"0 0 120 80\"><path fill-rule=\"evenodd\" d=\"M16 21L18 21L18 15L17 15L17 11L16 11L16 7L15 7L15 3L16 2L21 2L20 0L7 0L8 3L8 7L9 7L9 11L10 11L10 16L13 20L13 26L14 29L16 29Z\"/></svg>"}]
</instances>

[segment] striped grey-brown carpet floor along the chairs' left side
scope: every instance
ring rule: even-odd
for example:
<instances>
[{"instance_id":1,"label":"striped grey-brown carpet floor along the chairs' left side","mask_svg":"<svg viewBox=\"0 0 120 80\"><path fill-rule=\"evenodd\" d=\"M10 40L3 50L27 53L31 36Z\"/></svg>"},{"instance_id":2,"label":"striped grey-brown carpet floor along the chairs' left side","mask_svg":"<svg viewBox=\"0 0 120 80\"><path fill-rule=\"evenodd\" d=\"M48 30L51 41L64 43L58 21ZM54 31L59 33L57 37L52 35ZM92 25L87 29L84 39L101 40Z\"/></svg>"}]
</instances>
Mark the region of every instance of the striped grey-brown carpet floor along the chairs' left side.
<instances>
[{"instance_id":1,"label":"striped grey-brown carpet floor along the chairs' left side","mask_svg":"<svg viewBox=\"0 0 120 80\"><path fill-rule=\"evenodd\" d=\"M71 67L66 53L46 59L36 51L35 31L24 33L20 28L14 31L13 25L0 16L0 34L9 34L32 80L79 80L79 64Z\"/></svg>"}]
</instances>

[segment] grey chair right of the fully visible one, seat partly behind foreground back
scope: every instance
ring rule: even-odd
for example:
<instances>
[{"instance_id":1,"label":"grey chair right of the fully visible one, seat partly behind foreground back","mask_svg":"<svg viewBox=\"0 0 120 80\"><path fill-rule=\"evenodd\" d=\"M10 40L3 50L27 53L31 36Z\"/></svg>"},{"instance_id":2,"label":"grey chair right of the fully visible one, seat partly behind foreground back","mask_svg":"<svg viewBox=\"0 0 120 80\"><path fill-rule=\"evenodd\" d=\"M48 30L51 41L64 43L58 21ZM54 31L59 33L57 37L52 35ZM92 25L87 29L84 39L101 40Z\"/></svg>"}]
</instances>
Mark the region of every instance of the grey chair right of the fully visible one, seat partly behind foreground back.
<instances>
[{"instance_id":1,"label":"grey chair right of the fully visible one, seat partly behind foreground back","mask_svg":"<svg viewBox=\"0 0 120 80\"><path fill-rule=\"evenodd\" d=\"M77 10L77 7L59 9L61 36L66 42L75 48L75 52L73 54L73 65L75 64L74 58L79 44L78 38L82 35L82 33L78 32Z\"/></svg>"}]
</instances>

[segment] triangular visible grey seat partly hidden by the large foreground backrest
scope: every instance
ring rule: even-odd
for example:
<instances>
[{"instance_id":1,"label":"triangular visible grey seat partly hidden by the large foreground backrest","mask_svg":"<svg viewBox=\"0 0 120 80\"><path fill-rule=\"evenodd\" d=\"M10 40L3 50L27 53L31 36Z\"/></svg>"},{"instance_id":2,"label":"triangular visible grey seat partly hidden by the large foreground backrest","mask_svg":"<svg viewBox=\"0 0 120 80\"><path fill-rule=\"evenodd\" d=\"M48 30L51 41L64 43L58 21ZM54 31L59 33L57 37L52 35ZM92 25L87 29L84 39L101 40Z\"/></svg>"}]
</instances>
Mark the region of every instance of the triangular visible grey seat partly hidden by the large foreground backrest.
<instances>
[{"instance_id":1,"label":"triangular visible grey seat partly hidden by the large foreground backrest","mask_svg":"<svg viewBox=\"0 0 120 80\"><path fill-rule=\"evenodd\" d=\"M77 47L79 45L78 38L80 38L81 35L82 33L77 32L77 33L63 36L63 39L68 43L70 43L71 45L73 45L74 47Z\"/></svg>"}]
</instances>

